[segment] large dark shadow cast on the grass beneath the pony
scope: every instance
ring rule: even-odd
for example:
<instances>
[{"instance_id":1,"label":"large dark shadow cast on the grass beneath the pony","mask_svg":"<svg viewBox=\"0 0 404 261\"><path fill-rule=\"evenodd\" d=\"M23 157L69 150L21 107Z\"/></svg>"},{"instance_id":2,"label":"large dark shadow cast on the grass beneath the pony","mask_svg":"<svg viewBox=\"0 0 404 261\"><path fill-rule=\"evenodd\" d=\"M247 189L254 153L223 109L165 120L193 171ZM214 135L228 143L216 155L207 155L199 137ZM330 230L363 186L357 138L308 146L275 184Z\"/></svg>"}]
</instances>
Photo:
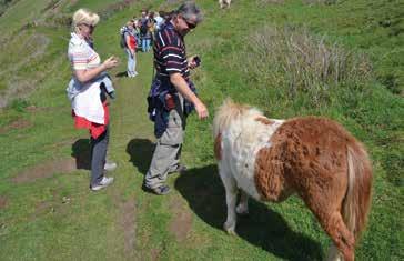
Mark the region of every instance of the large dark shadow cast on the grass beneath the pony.
<instances>
[{"instance_id":1,"label":"large dark shadow cast on the grass beneath the pony","mask_svg":"<svg viewBox=\"0 0 404 261\"><path fill-rule=\"evenodd\" d=\"M222 230L226 204L216 165L188 170L176 179L175 189L198 217L211 227ZM320 243L292 231L281 214L254 200L250 201L249 217L238 218L236 233L245 241L282 259L323 259Z\"/></svg>"}]
</instances>

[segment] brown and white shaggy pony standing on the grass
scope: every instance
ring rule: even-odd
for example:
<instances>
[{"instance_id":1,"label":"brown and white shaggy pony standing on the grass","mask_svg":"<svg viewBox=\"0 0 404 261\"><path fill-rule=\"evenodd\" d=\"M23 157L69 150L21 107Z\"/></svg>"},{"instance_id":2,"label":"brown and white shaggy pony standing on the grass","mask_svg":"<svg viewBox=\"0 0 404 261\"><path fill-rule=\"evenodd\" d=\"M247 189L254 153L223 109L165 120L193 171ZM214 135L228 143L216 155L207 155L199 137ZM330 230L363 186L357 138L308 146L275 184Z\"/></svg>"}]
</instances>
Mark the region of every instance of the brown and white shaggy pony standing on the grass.
<instances>
[{"instance_id":1,"label":"brown and white shaggy pony standing on the grass","mask_svg":"<svg viewBox=\"0 0 404 261\"><path fill-rule=\"evenodd\" d=\"M325 118L274 120L229 99L216 111L213 132L228 204L224 230L234 233L236 212L249 212L249 197L281 202L296 193L333 240L327 259L354 260L372 192L361 142Z\"/></svg>"}]
</instances>

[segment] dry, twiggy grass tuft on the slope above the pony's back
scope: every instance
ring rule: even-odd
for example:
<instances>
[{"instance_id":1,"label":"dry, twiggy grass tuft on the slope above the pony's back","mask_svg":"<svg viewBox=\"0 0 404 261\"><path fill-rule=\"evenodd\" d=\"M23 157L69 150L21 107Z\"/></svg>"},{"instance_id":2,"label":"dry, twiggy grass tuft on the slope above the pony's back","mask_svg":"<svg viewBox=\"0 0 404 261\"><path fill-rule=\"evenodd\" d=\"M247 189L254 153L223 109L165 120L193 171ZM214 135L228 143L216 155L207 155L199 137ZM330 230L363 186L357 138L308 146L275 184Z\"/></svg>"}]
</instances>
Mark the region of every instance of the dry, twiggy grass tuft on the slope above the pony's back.
<instances>
[{"instance_id":1,"label":"dry, twiggy grass tuft on the slope above the pony's back","mask_svg":"<svg viewBox=\"0 0 404 261\"><path fill-rule=\"evenodd\" d=\"M327 43L306 29L265 27L245 42L249 54L243 58L241 70L246 78L286 88L292 96L310 92L314 101L339 84L361 86L372 71L364 54Z\"/></svg>"}]
</instances>

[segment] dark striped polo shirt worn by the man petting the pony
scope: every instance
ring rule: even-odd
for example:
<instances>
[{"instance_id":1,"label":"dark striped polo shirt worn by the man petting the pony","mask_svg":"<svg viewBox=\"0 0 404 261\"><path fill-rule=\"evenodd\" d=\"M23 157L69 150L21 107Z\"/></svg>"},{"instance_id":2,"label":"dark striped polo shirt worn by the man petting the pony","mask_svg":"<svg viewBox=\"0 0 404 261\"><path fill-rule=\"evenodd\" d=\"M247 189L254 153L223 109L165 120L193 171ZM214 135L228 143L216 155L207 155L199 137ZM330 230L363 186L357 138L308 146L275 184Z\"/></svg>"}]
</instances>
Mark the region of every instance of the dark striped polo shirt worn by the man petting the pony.
<instances>
[{"instance_id":1,"label":"dark striped polo shirt worn by the man petting the pony","mask_svg":"<svg viewBox=\"0 0 404 261\"><path fill-rule=\"evenodd\" d=\"M180 72L188 81L190 69L188 68L186 51L183 37L180 36L173 24L168 21L155 32L154 67L159 78L169 80L170 74Z\"/></svg>"}]
</instances>

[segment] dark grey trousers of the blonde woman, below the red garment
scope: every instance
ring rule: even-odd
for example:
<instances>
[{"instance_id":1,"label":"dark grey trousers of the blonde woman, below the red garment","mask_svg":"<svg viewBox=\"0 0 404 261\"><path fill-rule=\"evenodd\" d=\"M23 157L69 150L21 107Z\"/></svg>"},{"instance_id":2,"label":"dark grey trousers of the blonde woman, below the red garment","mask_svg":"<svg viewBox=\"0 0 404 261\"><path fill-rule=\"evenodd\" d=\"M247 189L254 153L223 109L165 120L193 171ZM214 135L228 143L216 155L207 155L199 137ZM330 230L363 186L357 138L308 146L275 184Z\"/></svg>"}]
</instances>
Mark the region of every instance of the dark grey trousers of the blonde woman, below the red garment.
<instances>
[{"instance_id":1,"label":"dark grey trousers of the blonde woman, below the red garment","mask_svg":"<svg viewBox=\"0 0 404 261\"><path fill-rule=\"evenodd\" d=\"M104 164L109 138L109 127L107 127L104 133L102 133L99 138L91 138L91 185L99 184L104 177Z\"/></svg>"}]
</instances>

